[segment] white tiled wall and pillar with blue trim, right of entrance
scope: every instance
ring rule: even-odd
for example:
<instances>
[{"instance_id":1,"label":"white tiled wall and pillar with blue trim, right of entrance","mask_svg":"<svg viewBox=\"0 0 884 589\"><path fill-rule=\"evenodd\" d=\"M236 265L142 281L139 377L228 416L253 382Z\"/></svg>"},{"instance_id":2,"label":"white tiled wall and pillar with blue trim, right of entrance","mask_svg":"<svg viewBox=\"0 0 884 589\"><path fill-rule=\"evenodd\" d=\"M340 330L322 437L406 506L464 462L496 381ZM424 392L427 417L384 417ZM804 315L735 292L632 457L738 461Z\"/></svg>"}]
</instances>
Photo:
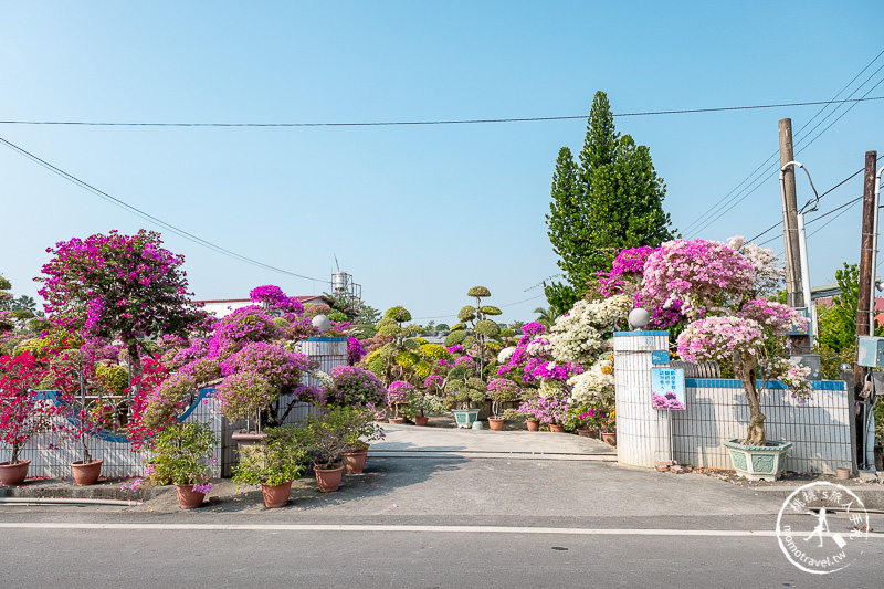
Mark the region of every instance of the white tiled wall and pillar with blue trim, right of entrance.
<instances>
[{"instance_id":1,"label":"white tiled wall and pillar with blue trim, right of entrance","mask_svg":"<svg viewBox=\"0 0 884 589\"><path fill-rule=\"evenodd\" d=\"M686 379L685 411L667 416L654 410L651 351L666 348L665 332L614 335L618 460L653 466L672 456L693 466L732 469L722 440L746 435L749 408L740 381ZM761 404L768 439L793 443L787 470L833 474L839 466L852 466L850 396L844 382L814 382L812 398L803 403L792 399L781 382L769 382Z\"/></svg>"}]
</instances>

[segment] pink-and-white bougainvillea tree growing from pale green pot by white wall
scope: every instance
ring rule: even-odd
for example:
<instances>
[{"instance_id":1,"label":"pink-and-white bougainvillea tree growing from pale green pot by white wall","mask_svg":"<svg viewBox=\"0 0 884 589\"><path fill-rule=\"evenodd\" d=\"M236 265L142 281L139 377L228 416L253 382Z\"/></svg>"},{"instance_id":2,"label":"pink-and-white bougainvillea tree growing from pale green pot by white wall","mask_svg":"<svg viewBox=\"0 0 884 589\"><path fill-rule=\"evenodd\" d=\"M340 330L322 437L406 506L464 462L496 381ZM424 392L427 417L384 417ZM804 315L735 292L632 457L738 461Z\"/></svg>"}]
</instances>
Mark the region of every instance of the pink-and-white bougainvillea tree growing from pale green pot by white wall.
<instances>
[{"instance_id":1,"label":"pink-and-white bougainvillea tree growing from pale green pot by white wall","mask_svg":"<svg viewBox=\"0 0 884 589\"><path fill-rule=\"evenodd\" d=\"M728 244L675 240L648 256L639 293L655 317L678 314L690 322L677 340L683 359L733 361L749 404L746 445L766 443L760 391L768 380L782 380L792 397L810 395L810 369L789 359L786 336L804 319L765 296L779 274L770 250L741 238ZM765 380L758 387L760 369Z\"/></svg>"}]
</instances>

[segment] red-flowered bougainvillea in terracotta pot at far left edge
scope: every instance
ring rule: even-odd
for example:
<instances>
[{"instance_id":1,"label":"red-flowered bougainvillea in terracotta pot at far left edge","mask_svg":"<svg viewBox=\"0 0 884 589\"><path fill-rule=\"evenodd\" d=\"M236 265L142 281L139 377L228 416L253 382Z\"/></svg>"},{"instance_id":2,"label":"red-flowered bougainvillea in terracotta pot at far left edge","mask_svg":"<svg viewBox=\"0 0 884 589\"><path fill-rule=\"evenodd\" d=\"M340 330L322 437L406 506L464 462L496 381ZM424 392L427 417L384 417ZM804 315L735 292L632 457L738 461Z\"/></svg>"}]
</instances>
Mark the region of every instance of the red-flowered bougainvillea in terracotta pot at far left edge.
<instances>
[{"instance_id":1,"label":"red-flowered bougainvillea in terracotta pot at far left edge","mask_svg":"<svg viewBox=\"0 0 884 589\"><path fill-rule=\"evenodd\" d=\"M52 428L51 418L59 408L40 401L34 388L43 370L33 354L0 356L0 441L9 444L9 462L0 462L0 482L6 486L20 485L28 476L30 460L20 460L28 441Z\"/></svg>"}]
</instances>

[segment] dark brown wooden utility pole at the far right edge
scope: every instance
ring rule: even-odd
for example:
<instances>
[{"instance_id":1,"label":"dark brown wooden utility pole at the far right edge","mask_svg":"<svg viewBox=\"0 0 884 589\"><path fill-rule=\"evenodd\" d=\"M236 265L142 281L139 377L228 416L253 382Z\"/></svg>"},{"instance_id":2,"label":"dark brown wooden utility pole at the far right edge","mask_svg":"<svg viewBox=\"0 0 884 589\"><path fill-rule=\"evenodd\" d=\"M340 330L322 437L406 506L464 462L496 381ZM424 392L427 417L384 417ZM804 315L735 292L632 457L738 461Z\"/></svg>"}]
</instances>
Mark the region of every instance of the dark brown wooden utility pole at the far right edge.
<instances>
[{"instance_id":1,"label":"dark brown wooden utility pole at the far right edge","mask_svg":"<svg viewBox=\"0 0 884 589\"><path fill-rule=\"evenodd\" d=\"M875 215L875 166L877 151L865 152L865 175L863 176L863 222L860 238L860 284L856 297L856 337L867 336L874 317L872 315L872 249L874 248ZM857 339L859 341L859 339ZM856 348L856 361L860 349ZM865 368L859 364L853 366L853 389L859 395L865 381Z\"/></svg>"}]
</instances>

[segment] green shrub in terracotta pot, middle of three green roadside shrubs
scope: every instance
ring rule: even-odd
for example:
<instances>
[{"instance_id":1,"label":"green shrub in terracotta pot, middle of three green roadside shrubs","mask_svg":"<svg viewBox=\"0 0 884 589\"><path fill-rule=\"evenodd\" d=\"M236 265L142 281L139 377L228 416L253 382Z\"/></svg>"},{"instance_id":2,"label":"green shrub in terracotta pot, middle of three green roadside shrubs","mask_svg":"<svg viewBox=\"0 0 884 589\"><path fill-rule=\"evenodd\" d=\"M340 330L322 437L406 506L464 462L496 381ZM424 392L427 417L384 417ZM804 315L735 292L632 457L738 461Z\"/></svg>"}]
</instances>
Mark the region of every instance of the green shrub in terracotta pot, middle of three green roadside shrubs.
<instances>
[{"instance_id":1,"label":"green shrub in terracotta pot, middle of three green roadside shrubs","mask_svg":"<svg viewBox=\"0 0 884 589\"><path fill-rule=\"evenodd\" d=\"M267 437L240 453L240 463L233 481L244 485L261 485L267 508L283 507L288 503L292 482L301 478L307 464L303 435L294 425L269 428Z\"/></svg>"}]
</instances>

